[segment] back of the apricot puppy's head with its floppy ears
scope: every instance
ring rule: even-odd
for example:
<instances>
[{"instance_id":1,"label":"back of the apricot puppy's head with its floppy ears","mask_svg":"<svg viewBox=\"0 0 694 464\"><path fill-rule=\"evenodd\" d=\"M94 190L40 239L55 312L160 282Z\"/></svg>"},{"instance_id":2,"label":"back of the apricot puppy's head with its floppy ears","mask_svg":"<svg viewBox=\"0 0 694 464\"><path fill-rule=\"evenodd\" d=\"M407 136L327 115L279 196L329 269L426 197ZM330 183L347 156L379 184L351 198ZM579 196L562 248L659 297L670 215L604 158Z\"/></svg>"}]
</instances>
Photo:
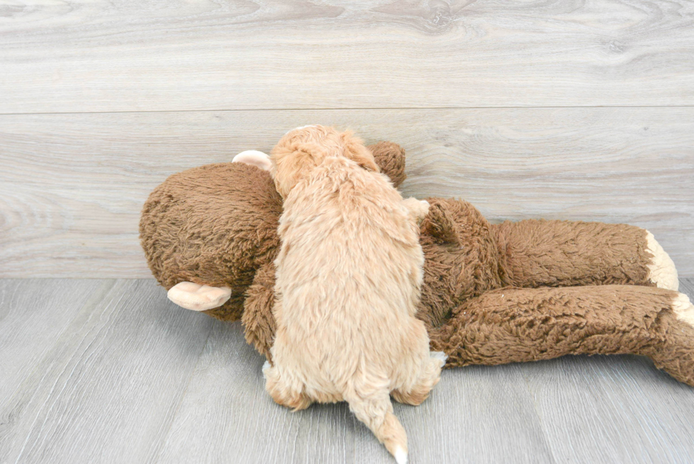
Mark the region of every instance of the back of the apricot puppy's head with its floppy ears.
<instances>
[{"instance_id":1,"label":"back of the apricot puppy's head with its floppy ears","mask_svg":"<svg viewBox=\"0 0 694 464\"><path fill-rule=\"evenodd\" d=\"M368 171L378 172L373 155L352 132L307 125L287 132L272 149L271 174L283 198L324 159L345 157Z\"/></svg>"}]
</instances>

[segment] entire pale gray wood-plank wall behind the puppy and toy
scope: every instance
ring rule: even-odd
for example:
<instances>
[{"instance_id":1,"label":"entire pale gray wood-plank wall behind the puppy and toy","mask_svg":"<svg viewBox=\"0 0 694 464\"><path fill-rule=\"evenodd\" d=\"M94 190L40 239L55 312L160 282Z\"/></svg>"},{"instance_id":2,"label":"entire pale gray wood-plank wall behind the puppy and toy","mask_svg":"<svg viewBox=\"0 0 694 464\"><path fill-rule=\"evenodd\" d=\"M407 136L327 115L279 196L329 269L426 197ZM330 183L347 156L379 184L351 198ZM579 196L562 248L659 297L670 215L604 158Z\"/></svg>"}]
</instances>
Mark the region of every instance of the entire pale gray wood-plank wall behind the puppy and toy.
<instances>
[{"instance_id":1,"label":"entire pale gray wood-plank wall behind the puppy and toy","mask_svg":"<svg viewBox=\"0 0 694 464\"><path fill-rule=\"evenodd\" d=\"M176 171L350 127L404 191L646 227L694 276L694 3L0 1L0 277L147 277Z\"/></svg>"}]
</instances>

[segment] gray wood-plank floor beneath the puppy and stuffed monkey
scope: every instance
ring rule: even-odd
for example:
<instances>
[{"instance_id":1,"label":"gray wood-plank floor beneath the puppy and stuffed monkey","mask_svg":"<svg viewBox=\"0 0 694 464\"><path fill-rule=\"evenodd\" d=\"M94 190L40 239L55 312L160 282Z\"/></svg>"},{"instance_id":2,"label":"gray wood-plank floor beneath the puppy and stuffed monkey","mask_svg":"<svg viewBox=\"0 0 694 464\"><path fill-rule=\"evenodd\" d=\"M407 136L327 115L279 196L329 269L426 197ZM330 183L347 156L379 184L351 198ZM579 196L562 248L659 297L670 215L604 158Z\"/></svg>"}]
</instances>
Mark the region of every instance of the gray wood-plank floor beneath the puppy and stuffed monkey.
<instances>
[{"instance_id":1,"label":"gray wood-plank floor beneath the puppy and stuffed monkey","mask_svg":"<svg viewBox=\"0 0 694 464\"><path fill-rule=\"evenodd\" d=\"M0 463L392 462L346 404L274 404L263 360L151 279L0 280ZM395 409L413 464L694 462L694 389L636 356L446 370Z\"/></svg>"}]
</instances>

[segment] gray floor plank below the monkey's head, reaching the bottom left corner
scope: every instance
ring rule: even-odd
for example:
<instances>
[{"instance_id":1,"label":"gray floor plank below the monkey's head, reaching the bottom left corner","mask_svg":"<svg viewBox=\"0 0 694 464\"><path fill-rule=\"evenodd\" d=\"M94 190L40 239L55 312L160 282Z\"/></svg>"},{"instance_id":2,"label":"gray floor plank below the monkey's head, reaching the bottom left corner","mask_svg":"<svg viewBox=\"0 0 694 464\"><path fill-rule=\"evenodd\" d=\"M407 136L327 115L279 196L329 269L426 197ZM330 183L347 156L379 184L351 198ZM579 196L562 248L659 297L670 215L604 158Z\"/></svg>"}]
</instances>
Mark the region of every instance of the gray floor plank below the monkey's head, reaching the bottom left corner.
<instances>
[{"instance_id":1,"label":"gray floor plank below the monkey's head, reaching the bottom left corner","mask_svg":"<svg viewBox=\"0 0 694 464\"><path fill-rule=\"evenodd\" d=\"M59 303L36 282L20 283L17 292L39 286L43 301ZM74 285L64 282L52 285ZM212 320L174 307L150 279L110 282L107 288L96 283L101 285L79 283L96 287L93 298L74 301L76 317L55 343L45 345L50 346L45 357L1 403L0 417L11 420L3 421L0 462L144 463L156 458ZM19 309L33 310L18 301ZM50 317L51 310L44 305L37 312ZM21 319L16 309L11 319L12 324ZM33 339L48 332L37 325ZM3 353L6 343L0 339ZM34 358L13 356L14 362L23 360Z\"/></svg>"}]
</instances>

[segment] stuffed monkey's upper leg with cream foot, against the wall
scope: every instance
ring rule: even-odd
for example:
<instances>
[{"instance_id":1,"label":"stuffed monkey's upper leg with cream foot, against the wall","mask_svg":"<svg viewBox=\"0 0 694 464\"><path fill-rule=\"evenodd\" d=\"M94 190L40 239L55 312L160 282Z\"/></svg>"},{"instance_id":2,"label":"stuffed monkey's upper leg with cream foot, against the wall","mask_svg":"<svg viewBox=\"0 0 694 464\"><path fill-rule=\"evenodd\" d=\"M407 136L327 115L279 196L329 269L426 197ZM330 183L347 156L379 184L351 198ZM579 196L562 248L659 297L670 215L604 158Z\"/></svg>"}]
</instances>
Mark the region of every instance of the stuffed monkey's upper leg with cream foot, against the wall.
<instances>
[{"instance_id":1,"label":"stuffed monkey's upper leg with cream foot, against the wall","mask_svg":"<svg viewBox=\"0 0 694 464\"><path fill-rule=\"evenodd\" d=\"M677 271L653 234L625 224L548 220L491 226L504 285L657 285L677 290Z\"/></svg>"}]
</instances>

